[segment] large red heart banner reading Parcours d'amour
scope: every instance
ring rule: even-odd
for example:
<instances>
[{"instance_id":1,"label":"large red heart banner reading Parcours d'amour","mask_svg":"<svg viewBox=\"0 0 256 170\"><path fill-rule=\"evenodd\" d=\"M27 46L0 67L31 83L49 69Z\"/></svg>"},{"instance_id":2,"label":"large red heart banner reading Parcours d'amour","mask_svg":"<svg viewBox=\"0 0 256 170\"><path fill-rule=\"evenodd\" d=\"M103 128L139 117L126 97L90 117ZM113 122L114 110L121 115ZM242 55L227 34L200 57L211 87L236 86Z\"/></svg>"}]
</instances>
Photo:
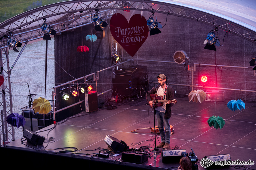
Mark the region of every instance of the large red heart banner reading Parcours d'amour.
<instances>
[{"instance_id":1,"label":"large red heart banner reading Parcours d'amour","mask_svg":"<svg viewBox=\"0 0 256 170\"><path fill-rule=\"evenodd\" d=\"M135 14L128 23L125 16L116 13L110 19L110 31L117 43L133 57L148 37L147 20Z\"/></svg>"}]
</instances>

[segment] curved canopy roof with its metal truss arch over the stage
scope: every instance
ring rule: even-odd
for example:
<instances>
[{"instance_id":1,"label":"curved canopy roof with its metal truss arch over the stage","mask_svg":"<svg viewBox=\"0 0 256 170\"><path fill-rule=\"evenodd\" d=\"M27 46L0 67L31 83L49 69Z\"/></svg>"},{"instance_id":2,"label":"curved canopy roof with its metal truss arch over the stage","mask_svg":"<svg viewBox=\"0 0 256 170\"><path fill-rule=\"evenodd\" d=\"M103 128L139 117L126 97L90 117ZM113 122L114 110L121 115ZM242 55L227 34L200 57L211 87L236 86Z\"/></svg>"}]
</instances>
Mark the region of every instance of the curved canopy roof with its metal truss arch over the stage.
<instances>
[{"instance_id":1,"label":"curved canopy roof with its metal truss arch over the stage","mask_svg":"<svg viewBox=\"0 0 256 170\"><path fill-rule=\"evenodd\" d=\"M2 22L0 48L7 46L7 37L11 35L22 43L42 38L44 18L58 34L90 24L96 9L106 19L127 6L130 10L165 13L204 22L256 43L256 1L253 0L71 0L38 7Z\"/></svg>"}]
</instances>

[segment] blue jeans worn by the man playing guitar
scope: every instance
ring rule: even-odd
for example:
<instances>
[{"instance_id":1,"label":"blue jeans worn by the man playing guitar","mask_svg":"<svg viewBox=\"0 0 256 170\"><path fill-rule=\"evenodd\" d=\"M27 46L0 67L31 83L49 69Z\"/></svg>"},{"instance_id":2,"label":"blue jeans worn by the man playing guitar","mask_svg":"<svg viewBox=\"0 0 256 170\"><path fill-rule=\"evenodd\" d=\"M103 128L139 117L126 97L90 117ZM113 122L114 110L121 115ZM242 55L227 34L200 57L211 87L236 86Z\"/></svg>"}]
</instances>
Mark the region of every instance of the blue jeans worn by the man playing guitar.
<instances>
[{"instance_id":1,"label":"blue jeans worn by the man playing guitar","mask_svg":"<svg viewBox=\"0 0 256 170\"><path fill-rule=\"evenodd\" d=\"M156 112L158 129L161 136L161 142L170 144L170 137L171 137L170 118L165 119L164 112L159 112L158 110L156 110L155 112Z\"/></svg>"}]
</instances>

